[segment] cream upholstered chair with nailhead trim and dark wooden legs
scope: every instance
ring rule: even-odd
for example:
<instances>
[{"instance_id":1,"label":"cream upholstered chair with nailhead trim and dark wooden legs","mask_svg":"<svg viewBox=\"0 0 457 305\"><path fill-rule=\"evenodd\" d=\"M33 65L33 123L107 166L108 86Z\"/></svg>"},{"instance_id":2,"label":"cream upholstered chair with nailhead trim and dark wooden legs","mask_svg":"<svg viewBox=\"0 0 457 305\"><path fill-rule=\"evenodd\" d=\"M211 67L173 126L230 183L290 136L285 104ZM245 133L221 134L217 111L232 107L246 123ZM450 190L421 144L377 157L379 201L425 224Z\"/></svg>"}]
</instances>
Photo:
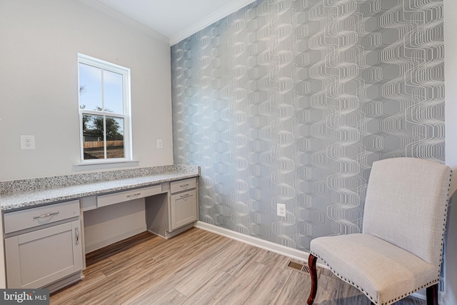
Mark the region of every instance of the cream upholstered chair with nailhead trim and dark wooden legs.
<instances>
[{"instance_id":1,"label":"cream upholstered chair with nailhead trim and dark wooden legs","mask_svg":"<svg viewBox=\"0 0 457 305\"><path fill-rule=\"evenodd\" d=\"M437 305L450 180L451 169L433 161L374 162L362 233L311 241L308 304L316 297L316 259L321 259L371 304L392 304L426 289L427 304Z\"/></svg>"}]
</instances>

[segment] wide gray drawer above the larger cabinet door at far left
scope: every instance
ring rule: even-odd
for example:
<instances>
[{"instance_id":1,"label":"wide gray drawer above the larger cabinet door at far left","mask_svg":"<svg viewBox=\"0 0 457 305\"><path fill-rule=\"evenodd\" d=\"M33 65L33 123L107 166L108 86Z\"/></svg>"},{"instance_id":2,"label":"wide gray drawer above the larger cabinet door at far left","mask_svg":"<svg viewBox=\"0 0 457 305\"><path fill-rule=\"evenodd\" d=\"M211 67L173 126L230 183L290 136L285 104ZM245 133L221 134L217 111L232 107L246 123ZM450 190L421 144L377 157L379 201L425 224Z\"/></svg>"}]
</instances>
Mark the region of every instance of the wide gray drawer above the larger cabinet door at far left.
<instances>
[{"instance_id":1,"label":"wide gray drawer above the larger cabinet door at far left","mask_svg":"<svg viewBox=\"0 0 457 305\"><path fill-rule=\"evenodd\" d=\"M79 216L79 200L5 213L5 234L76 216Z\"/></svg>"}]
</instances>

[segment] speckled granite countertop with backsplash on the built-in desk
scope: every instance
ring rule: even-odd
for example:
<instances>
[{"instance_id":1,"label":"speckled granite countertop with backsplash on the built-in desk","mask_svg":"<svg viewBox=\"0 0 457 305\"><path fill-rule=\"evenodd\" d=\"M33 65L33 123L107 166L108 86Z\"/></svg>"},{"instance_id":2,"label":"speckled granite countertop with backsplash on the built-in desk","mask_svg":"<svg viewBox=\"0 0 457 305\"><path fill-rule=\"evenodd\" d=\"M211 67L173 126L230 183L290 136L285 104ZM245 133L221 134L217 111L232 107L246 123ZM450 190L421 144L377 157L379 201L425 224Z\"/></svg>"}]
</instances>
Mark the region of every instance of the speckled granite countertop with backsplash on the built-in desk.
<instances>
[{"instance_id":1,"label":"speckled granite countertop with backsplash on the built-in desk","mask_svg":"<svg viewBox=\"0 0 457 305\"><path fill-rule=\"evenodd\" d=\"M0 182L1 211L124 191L199 176L199 166L156 166ZM125 177L125 178L123 178Z\"/></svg>"}]
</instances>

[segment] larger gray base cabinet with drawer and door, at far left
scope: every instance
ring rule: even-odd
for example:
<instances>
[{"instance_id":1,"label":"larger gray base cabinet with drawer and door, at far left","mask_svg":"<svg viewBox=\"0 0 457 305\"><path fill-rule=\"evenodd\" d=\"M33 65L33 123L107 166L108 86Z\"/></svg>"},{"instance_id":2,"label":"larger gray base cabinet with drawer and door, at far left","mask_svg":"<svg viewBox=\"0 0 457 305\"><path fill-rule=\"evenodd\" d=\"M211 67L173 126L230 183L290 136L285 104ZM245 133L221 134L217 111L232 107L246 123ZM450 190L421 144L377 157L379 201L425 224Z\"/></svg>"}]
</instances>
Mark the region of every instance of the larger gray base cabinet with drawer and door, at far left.
<instances>
[{"instance_id":1,"label":"larger gray base cabinet with drawer and door, at far left","mask_svg":"<svg viewBox=\"0 0 457 305\"><path fill-rule=\"evenodd\" d=\"M5 227L21 224L4 239L8 288L41 288L83 269L79 201L12 212L4 220Z\"/></svg>"}]
</instances>

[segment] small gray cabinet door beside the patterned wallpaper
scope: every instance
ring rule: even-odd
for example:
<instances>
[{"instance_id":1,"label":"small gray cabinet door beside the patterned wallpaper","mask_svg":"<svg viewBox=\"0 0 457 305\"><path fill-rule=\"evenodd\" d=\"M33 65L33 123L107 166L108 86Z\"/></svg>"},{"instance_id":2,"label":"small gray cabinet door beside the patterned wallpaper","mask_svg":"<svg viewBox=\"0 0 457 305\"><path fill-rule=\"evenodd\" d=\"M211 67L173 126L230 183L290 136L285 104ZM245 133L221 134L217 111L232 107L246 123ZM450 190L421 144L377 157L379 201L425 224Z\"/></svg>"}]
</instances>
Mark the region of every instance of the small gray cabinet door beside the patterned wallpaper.
<instances>
[{"instance_id":1,"label":"small gray cabinet door beside the patterned wallpaper","mask_svg":"<svg viewBox=\"0 0 457 305\"><path fill-rule=\"evenodd\" d=\"M170 229L190 224L197 220L196 190L185 191L171 196L170 202Z\"/></svg>"}]
</instances>

